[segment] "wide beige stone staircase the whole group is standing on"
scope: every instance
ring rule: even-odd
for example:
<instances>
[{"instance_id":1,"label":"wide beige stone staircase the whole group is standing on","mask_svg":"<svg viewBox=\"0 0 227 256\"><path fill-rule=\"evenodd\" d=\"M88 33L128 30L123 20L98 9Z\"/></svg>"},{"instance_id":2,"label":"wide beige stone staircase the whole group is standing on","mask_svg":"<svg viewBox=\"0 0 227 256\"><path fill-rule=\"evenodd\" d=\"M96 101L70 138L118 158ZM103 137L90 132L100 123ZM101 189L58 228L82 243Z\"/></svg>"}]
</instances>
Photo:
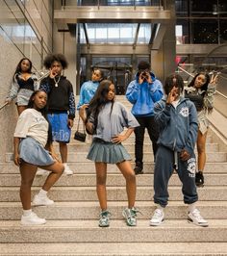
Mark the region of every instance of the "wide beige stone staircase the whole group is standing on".
<instances>
[{"instance_id":1,"label":"wide beige stone staircase the whole group is standing on","mask_svg":"<svg viewBox=\"0 0 227 256\"><path fill-rule=\"evenodd\" d=\"M134 136L125 146L134 160ZM207 142L206 186L198 189L198 208L209 220L207 228L187 222L188 207L183 203L175 173L169 183L165 222L160 227L149 226L155 205L152 201L154 163L147 136L145 173L137 176L136 206L142 213L138 216L138 226L128 227L121 216L127 205L125 182L116 166L110 165L107 184L111 226L99 228L94 165L86 160L88 147L83 142L70 142L68 160L74 175L63 176L51 190L49 196L56 202L53 206L34 208L38 216L47 218L43 226L20 225L20 175L13 165L12 153L6 154L6 162L0 163L1 256L227 255L227 153L226 145L216 140L213 130ZM38 192L44 178L36 177L33 193Z\"/></svg>"}]
</instances>

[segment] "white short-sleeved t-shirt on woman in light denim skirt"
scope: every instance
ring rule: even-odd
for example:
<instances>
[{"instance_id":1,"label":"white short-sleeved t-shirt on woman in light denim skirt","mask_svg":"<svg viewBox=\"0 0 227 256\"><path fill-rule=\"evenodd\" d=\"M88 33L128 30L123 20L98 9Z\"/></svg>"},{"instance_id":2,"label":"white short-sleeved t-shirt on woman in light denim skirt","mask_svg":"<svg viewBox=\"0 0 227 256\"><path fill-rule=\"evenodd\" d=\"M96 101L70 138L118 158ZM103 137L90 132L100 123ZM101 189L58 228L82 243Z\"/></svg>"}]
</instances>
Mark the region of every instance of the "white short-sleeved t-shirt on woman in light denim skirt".
<instances>
[{"instance_id":1,"label":"white short-sleeved t-shirt on woman in light denim skirt","mask_svg":"<svg viewBox=\"0 0 227 256\"><path fill-rule=\"evenodd\" d=\"M46 145L49 124L47 120L35 109L26 109L18 118L14 137L32 137L43 146Z\"/></svg>"}]
</instances>

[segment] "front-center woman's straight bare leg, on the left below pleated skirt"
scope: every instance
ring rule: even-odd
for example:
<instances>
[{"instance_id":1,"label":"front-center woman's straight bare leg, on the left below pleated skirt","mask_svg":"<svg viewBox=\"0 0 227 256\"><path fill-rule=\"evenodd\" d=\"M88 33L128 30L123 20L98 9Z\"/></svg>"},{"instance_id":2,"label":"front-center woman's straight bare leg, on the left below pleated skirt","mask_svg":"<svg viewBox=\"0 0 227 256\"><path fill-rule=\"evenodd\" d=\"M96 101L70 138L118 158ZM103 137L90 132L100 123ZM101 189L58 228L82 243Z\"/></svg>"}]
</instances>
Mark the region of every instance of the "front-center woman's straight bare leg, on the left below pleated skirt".
<instances>
[{"instance_id":1,"label":"front-center woman's straight bare leg, on the left below pleated skirt","mask_svg":"<svg viewBox=\"0 0 227 256\"><path fill-rule=\"evenodd\" d=\"M99 205L102 211L107 210L107 164L95 163L96 169L96 192L98 195Z\"/></svg>"}]
</instances>

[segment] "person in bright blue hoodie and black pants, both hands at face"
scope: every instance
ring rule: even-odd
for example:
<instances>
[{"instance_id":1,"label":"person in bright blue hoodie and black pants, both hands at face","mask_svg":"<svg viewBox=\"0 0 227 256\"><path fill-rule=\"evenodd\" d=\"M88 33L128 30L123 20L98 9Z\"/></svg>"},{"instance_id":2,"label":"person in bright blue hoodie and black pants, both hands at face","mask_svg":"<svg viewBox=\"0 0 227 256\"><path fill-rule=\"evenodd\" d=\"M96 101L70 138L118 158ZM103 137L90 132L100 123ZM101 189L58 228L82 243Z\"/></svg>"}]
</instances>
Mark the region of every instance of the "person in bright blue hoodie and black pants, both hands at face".
<instances>
[{"instance_id":1,"label":"person in bright blue hoodie and black pants, both hands at face","mask_svg":"<svg viewBox=\"0 0 227 256\"><path fill-rule=\"evenodd\" d=\"M135 173L142 173L143 141L145 128L148 131L154 156L157 151L158 128L154 120L154 103L163 95L163 85L150 71L150 64L141 61L138 65L136 80L132 81L126 91L126 98L133 104L132 114L137 118L139 127L135 129Z\"/></svg>"}]
</instances>

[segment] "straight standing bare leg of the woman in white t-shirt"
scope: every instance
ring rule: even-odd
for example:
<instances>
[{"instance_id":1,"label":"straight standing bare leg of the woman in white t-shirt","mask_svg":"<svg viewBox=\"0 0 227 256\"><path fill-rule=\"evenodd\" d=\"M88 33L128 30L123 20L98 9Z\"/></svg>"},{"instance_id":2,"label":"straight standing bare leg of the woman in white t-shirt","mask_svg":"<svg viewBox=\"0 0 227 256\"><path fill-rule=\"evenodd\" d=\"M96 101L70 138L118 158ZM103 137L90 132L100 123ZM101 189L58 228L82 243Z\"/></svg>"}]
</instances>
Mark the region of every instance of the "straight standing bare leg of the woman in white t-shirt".
<instances>
[{"instance_id":1,"label":"straight standing bare leg of the woman in white t-shirt","mask_svg":"<svg viewBox=\"0 0 227 256\"><path fill-rule=\"evenodd\" d=\"M38 169L38 166L22 162L20 164L20 200L22 203L23 210L31 209L31 187Z\"/></svg>"}]
</instances>

